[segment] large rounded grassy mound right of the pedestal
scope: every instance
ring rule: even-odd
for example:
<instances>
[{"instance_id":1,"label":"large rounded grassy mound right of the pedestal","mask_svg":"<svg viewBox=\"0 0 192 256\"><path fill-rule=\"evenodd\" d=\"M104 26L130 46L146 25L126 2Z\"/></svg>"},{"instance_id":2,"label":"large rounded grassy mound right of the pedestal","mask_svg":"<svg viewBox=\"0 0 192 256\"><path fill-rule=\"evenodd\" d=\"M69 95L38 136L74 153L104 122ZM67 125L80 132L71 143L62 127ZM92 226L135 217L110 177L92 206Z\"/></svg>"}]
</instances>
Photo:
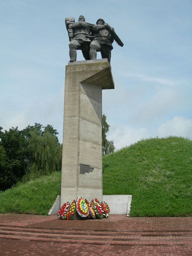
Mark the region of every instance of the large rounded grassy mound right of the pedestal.
<instances>
[{"instance_id":1,"label":"large rounded grassy mound right of the pedestal","mask_svg":"<svg viewBox=\"0 0 192 256\"><path fill-rule=\"evenodd\" d=\"M147 139L106 155L103 194L132 195L131 217L192 215L192 141Z\"/></svg>"}]
</instances>

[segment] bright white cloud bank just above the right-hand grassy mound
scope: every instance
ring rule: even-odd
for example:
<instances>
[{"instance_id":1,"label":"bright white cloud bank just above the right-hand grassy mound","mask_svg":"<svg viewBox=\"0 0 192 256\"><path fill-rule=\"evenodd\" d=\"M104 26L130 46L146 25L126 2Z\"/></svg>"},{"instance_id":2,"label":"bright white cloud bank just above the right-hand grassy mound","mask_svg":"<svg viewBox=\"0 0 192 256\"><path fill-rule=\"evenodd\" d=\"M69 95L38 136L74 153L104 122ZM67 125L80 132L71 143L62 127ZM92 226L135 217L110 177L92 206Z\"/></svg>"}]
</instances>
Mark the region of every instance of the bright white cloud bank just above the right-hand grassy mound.
<instances>
[{"instance_id":1,"label":"bright white cloud bank just above the right-hand grassy mound","mask_svg":"<svg viewBox=\"0 0 192 256\"><path fill-rule=\"evenodd\" d=\"M170 135L192 139L192 119L174 116L157 127L148 128L111 124L107 139L114 141L117 150L141 139L155 138L156 136L161 138Z\"/></svg>"}]
</instances>

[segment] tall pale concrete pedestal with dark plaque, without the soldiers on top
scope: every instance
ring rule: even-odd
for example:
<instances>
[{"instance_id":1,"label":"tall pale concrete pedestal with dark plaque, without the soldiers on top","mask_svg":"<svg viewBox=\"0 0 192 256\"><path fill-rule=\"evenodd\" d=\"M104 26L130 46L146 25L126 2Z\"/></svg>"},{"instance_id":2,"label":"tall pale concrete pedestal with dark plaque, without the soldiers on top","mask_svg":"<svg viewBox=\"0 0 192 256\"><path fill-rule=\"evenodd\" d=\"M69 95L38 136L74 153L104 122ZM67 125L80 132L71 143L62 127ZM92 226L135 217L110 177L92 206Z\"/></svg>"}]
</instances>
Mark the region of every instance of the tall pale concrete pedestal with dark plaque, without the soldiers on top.
<instances>
[{"instance_id":1,"label":"tall pale concrete pedestal with dark plaque, without the soldiers on top","mask_svg":"<svg viewBox=\"0 0 192 256\"><path fill-rule=\"evenodd\" d=\"M66 66L61 205L103 199L102 89L114 89L107 59Z\"/></svg>"}]
</instances>

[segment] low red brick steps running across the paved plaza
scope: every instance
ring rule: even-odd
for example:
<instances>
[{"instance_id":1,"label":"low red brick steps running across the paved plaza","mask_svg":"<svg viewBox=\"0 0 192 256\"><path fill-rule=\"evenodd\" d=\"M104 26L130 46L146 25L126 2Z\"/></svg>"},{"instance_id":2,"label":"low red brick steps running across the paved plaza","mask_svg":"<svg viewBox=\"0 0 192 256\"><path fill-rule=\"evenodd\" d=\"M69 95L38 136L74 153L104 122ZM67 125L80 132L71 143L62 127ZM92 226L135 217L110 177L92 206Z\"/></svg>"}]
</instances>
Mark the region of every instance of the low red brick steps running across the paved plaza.
<instances>
[{"instance_id":1,"label":"low red brick steps running across the paved plaza","mask_svg":"<svg viewBox=\"0 0 192 256\"><path fill-rule=\"evenodd\" d=\"M40 230L41 231L41 230ZM0 238L4 239L19 239L39 242L57 242L57 243L78 243L89 245L151 245L151 246L170 246L170 245L192 245L192 235L188 236L152 236L141 237L141 234L134 236L119 236L114 234L107 234L102 236L90 234L66 234L66 233L48 233L36 232L31 229L24 228L23 231L3 230L1 227Z\"/></svg>"}]
</instances>

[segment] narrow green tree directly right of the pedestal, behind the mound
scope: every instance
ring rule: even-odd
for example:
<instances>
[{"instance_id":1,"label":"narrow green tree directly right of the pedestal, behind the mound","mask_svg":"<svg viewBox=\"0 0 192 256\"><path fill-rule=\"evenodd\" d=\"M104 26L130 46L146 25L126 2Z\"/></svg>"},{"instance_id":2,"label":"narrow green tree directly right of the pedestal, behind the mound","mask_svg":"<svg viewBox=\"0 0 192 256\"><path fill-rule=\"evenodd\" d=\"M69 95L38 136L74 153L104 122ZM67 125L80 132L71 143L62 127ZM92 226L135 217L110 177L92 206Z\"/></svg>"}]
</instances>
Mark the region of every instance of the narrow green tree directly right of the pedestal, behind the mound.
<instances>
[{"instance_id":1,"label":"narrow green tree directly right of the pedestal, behind the mound","mask_svg":"<svg viewBox=\"0 0 192 256\"><path fill-rule=\"evenodd\" d=\"M106 115L102 115L102 152L103 155L113 153L115 146L113 141L107 140L106 133L109 131L110 125L107 124Z\"/></svg>"}]
</instances>

